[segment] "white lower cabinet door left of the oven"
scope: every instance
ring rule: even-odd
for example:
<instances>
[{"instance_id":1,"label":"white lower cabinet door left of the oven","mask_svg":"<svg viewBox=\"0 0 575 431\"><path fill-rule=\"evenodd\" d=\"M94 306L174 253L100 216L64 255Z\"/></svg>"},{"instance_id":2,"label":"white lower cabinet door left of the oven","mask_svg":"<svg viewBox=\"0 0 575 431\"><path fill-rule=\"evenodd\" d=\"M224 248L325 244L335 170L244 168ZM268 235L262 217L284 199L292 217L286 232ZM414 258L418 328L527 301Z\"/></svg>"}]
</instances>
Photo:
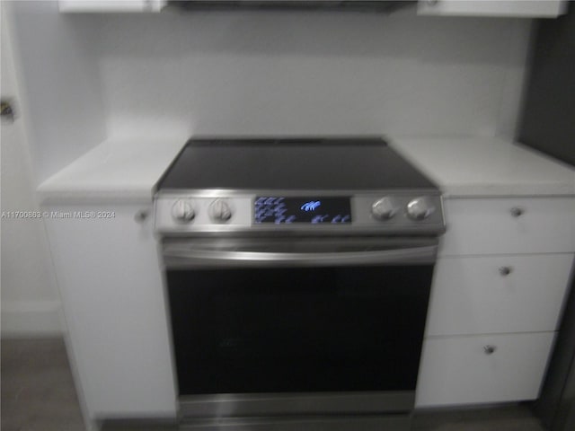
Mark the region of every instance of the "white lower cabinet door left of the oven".
<instances>
[{"instance_id":1,"label":"white lower cabinet door left of the oven","mask_svg":"<svg viewBox=\"0 0 575 431\"><path fill-rule=\"evenodd\" d=\"M135 206L44 208L69 346L90 419L175 417L152 217Z\"/></svg>"}]
</instances>

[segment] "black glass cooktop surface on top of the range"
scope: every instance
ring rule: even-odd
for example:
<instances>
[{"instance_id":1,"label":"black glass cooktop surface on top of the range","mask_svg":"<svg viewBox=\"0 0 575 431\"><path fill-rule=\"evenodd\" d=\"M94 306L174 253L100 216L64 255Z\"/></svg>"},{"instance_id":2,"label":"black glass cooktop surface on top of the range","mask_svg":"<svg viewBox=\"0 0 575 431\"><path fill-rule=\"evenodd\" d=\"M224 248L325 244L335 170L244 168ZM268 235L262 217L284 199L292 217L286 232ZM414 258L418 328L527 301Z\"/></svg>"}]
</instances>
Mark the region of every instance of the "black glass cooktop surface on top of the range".
<instances>
[{"instance_id":1,"label":"black glass cooktop surface on top of the range","mask_svg":"<svg viewBox=\"0 0 575 431\"><path fill-rule=\"evenodd\" d=\"M190 139L158 189L438 187L381 138Z\"/></svg>"}]
</instances>

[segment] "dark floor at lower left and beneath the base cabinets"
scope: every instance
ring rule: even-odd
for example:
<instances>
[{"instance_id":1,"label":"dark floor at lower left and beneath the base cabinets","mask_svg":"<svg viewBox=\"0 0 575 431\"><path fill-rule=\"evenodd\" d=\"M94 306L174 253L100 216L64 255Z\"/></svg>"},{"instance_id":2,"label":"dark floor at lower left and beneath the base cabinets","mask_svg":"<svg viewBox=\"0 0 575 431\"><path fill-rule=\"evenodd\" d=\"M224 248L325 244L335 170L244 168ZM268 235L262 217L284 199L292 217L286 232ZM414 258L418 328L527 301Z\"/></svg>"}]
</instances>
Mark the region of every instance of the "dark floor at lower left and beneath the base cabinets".
<instances>
[{"instance_id":1,"label":"dark floor at lower left and beneath the base cabinets","mask_svg":"<svg viewBox=\"0 0 575 431\"><path fill-rule=\"evenodd\" d=\"M2 340L2 431L84 431L61 339ZM105 427L105 431L173 431L172 427ZM425 411L413 431L543 431L525 406Z\"/></svg>"}]
</instances>

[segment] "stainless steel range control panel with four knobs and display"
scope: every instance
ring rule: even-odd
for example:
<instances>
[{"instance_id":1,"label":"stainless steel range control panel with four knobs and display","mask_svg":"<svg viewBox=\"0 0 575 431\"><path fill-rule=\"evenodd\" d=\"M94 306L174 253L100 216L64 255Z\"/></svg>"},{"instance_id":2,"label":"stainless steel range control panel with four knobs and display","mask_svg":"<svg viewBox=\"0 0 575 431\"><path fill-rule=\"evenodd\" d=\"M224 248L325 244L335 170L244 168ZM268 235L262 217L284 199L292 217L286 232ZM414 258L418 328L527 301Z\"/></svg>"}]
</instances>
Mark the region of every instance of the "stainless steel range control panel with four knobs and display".
<instances>
[{"instance_id":1,"label":"stainless steel range control panel with four knobs and display","mask_svg":"<svg viewBox=\"0 0 575 431\"><path fill-rule=\"evenodd\" d=\"M155 230L442 233L445 224L438 195L162 193L155 200Z\"/></svg>"}]
</instances>

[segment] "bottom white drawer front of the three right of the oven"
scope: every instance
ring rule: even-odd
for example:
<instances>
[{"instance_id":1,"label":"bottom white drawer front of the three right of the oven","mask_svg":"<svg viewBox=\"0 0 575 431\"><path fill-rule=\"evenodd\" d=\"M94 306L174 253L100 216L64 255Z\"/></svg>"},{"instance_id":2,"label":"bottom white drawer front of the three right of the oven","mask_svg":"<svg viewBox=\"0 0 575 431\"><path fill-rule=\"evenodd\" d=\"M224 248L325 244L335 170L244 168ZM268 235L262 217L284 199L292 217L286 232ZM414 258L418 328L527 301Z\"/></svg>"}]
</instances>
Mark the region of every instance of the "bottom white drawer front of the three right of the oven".
<instances>
[{"instance_id":1,"label":"bottom white drawer front of the three right of the oven","mask_svg":"<svg viewBox=\"0 0 575 431\"><path fill-rule=\"evenodd\" d=\"M535 400L554 332L426 339L416 406ZM485 347L494 347L487 354Z\"/></svg>"}]
</instances>

